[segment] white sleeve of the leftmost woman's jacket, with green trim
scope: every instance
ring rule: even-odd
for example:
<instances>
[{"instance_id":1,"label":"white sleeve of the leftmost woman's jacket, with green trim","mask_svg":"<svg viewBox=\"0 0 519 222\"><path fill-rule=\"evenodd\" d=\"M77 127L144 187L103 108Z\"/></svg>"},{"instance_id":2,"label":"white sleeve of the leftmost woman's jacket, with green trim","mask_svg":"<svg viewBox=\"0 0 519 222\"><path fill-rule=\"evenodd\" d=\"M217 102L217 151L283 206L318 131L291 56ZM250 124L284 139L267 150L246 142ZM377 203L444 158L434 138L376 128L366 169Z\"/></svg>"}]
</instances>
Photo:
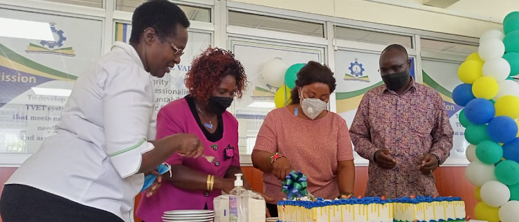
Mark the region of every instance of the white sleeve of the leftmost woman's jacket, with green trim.
<instances>
[{"instance_id":1,"label":"white sleeve of the leftmost woman's jacket, with green trim","mask_svg":"<svg viewBox=\"0 0 519 222\"><path fill-rule=\"evenodd\" d=\"M121 178L138 172L142 154L154 149L147 142L154 87L139 66L104 66L103 120L106 151ZM152 138L153 139L153 138Z\"/></svg>"}]
</instances>

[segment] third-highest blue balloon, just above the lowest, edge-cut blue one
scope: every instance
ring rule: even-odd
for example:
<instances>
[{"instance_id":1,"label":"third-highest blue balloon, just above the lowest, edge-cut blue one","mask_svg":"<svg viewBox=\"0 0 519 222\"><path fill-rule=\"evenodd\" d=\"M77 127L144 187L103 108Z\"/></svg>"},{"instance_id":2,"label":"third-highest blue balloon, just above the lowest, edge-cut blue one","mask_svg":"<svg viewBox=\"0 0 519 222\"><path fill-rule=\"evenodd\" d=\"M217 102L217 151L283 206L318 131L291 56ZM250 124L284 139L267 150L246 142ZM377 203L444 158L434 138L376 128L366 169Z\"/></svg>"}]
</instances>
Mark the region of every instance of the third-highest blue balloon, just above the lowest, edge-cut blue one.
<instances>
[{"instance_id":1,"label":"third-highest blue balloon, just above the lowest, edge-cut blue one","mask_svg":"<svg viewBox=\"0 0 519 222\"><path fill-rule=\"evenodd\" d=\"M511 142L517 136L518 127L516 121L506 115L496 116L489 122L486 132L495 142Z\"/></svg>"}]
</instances>

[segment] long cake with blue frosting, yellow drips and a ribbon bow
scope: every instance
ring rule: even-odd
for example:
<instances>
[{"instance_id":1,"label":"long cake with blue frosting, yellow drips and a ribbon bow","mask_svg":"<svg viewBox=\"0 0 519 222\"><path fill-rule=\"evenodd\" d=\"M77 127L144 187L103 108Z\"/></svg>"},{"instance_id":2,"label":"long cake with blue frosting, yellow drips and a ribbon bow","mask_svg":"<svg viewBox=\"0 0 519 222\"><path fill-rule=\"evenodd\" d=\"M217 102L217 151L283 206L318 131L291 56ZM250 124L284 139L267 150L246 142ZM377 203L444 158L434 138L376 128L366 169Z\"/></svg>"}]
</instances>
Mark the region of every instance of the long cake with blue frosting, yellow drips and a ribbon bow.
<instances>
[{"instance_id":1,"label":"long cake with blue frosting, yellow drips and a ribbon bow","mask_svg":"<svg viewBox=\"0 0 519 222\"><path fill-rule=\"evenodd\" d=\"M307 177L291 172L282 182L286 199L277 203L280 222L464 222L459 197L349 197L325 200L307 192Z\"/></svg>"}]
</instances>

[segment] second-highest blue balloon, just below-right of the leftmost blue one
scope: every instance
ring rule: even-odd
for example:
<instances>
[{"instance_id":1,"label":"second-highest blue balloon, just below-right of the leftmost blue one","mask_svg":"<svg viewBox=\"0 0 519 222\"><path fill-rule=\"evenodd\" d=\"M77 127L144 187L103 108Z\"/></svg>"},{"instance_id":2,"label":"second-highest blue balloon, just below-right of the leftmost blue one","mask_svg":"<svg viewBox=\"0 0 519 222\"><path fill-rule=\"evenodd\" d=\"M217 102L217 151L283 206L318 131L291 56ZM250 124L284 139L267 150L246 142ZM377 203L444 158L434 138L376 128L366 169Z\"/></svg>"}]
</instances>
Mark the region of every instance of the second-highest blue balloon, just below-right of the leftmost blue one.
<instances>
[{"instance_id":1,"label":"second-highest blue balloon, just below-right of the leftmost blue one","mask_svg":"<svg viewBox=\"0 0 519 222\"><path fill-rule=\"evenodd\" d=\"M477 98L468 102L465 106L465 117L472 124L486 124L495 115L492 102L483 98Z\"/></svg>"}]
</instances>

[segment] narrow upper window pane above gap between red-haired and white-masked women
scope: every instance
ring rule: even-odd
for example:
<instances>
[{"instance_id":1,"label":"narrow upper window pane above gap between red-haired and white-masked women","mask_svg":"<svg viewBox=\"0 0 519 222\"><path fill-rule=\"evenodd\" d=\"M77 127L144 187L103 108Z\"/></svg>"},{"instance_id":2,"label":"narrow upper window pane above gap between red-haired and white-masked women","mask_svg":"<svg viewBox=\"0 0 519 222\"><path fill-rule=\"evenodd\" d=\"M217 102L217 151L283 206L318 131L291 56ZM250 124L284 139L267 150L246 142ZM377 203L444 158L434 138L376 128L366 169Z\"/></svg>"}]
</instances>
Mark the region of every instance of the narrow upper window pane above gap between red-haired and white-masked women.
<instances>
[{"instance_id":1,"label":"narrow upper window pane above gap between red-haired and white-masked women","mask_svg":"<svg viewBox=\"0 0 519 222\"><path fill-rule=\"evenodd\" d=\"M307 21L280 19L264 15L253 15L244 12L229 12L229 25L246 28L272 30L283 33L325 37L324 25Z\"/></svg>"}]
</instances>

